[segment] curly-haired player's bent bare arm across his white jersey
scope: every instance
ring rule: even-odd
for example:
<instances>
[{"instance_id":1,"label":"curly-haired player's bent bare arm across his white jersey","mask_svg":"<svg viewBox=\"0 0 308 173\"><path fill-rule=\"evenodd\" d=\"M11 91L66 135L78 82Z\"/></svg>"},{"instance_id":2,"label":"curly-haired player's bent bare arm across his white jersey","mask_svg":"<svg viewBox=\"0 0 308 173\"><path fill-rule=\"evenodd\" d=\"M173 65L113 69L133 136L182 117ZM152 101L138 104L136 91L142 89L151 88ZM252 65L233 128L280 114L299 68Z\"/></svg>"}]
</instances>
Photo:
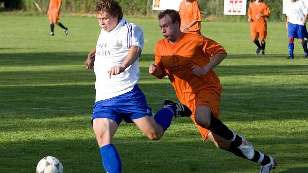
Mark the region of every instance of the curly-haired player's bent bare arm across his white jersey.
<instances>
[{"instance_id":1,"label":"curly-haired player's bent bare arm across his white jersey","mask_svg":"<svg viewBox=\"0 0 308 173\"><path fill-rule=\"evenodd\" d=\"M128 66L132 65L139 57L141 54L141 48L138 46L131 46L128 52L128 55L124 59L123 63L119 66L113 66L110 68L108 71L109 73L109 78L111 78L112 75L117 75L122 73Z\"/></svg>"}]
</instances>

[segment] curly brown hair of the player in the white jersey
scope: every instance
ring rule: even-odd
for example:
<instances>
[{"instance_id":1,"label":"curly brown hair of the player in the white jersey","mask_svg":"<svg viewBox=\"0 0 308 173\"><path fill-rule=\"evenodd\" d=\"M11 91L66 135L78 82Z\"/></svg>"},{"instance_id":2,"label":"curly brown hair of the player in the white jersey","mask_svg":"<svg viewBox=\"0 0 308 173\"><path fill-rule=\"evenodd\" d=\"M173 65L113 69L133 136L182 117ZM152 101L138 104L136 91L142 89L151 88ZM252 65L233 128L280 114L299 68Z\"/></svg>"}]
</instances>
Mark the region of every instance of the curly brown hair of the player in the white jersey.
<instances>
[{"instance_id":1,"label":"curly brown hair of the player in the white jersey","mask_svg":"<svg viewBox=\"0 0 308 173\"><path fill-rule=\"evenodd\" d=\"M123 18L122 8L115 0L99 0L95 3L94 10L97 14L107 12L113 17L118 17L119 21Z\"/></svg>"}]
</instances>

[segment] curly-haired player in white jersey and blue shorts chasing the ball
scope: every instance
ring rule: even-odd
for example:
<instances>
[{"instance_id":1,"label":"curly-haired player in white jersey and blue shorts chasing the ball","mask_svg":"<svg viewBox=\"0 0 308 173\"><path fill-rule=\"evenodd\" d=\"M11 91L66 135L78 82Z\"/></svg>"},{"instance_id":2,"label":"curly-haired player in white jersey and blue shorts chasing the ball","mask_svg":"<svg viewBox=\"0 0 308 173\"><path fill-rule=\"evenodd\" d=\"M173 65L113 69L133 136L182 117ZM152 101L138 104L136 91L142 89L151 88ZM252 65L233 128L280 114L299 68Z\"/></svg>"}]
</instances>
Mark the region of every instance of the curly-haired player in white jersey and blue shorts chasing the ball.
<instances>
[{"instance_id":1,"label":"curly-haired player in white jersey and blue shorts chasing the ball","mask_svg":"<svg viewBox=\"0 0 308 173\"><path fill-rule=\"evenodd\" d=\"M96 47L88 54L87 69L94 67L96 99L92 125L107 173L121 173L120 156L112 138L121 121L134 122L151 140L160 139L173 116L190 116L188 107L175 102L155 117L139 89L138 59L143 48L142 29L123 18L115 0L100 0L95 12L101 29Z\"/></svg>"}]
</instances>

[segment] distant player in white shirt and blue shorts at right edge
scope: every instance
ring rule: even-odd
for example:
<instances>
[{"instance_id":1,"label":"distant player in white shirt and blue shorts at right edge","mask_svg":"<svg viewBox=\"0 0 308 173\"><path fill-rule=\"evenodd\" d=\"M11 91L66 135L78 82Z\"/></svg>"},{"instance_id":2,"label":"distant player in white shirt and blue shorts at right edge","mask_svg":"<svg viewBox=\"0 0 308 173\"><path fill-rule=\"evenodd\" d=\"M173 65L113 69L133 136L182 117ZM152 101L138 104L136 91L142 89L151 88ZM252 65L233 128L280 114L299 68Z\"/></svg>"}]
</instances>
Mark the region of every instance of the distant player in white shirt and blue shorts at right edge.
<instances>
[{"instance_id":1,"label":"distant player in white shirt and blue shorts at right edge","mask_svg":"<svg viewBox=\"0 0 308 173\"><path fill-rule=\"evenodd\" d=\"M294 38L298 38L304 49L303 58L308 58L306 29L308 9L302 0L291 0L286 12L286 29L289 37L289 56L288 59L294 58Z\"/></svg>"}]
</instances>

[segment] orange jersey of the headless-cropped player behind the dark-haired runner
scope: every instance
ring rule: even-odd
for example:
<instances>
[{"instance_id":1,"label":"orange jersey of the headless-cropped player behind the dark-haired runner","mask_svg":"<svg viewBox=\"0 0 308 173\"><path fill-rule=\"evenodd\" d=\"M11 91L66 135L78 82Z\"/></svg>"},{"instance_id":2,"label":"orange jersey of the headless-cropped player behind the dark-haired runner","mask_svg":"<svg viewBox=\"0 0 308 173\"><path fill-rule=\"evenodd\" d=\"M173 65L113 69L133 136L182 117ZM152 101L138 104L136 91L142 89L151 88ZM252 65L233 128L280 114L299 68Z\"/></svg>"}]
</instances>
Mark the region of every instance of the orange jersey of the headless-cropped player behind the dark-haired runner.
<instances>
[{"instance_id":1,"label":"orange jersey of the headless-cropped player behind the dark-haired runner","mask_svg":"<svg viewBox=\"0 0 308 173\"><path fill-rule=\"evenodd\" d=\"M185 2L181 2L179 7L179 15L181 17L181 30L189 25L194 20L198 21L194 26L190 27L188 32L196 32L201 29L201 12L197 1L189 2L185 5Z\"/></svg>"}]
</instances>

